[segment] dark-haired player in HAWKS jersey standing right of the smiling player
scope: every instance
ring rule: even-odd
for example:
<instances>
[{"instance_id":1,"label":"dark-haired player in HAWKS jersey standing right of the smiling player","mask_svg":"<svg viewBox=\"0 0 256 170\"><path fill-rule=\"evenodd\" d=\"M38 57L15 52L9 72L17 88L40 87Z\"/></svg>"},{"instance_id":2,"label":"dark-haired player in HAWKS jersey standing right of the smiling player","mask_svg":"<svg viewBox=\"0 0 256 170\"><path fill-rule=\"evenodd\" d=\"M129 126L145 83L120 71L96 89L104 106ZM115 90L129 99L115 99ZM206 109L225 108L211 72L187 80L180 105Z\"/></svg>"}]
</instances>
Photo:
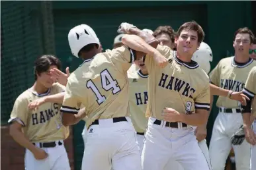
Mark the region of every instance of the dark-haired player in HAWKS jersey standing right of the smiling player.
<instances>
[{"instance_id":1,"label":"dark-haired player in HAWKS jersey standing right of the smiling player","mask_svg":"<svg viewBox=\"0 0 256 170\"><path fill-rule=\"evenodd\" d=\"M222 94L219 95L216 103L220 110L214 122L209 148L214 170L225 168L226 159L232 147L235 152L236 169L249 169L249 144L243 140L239 140L240 143L232 144L231 140L235 132L239 131L243 125L240 107L246 102L239 99L237 99L239 101L232 101L234 98L231 97L234 97L234 94L239 94L243 89L248 72L256 65L256 61L249 58L249 47L253 37L253 33L248 28L239 28L235 32L233 43L235 56L222 59L210 73L211 86L213 87L211 94ZM235 138L244 138L244 135L236 135Z\"/></svg>"}]
</instances>

